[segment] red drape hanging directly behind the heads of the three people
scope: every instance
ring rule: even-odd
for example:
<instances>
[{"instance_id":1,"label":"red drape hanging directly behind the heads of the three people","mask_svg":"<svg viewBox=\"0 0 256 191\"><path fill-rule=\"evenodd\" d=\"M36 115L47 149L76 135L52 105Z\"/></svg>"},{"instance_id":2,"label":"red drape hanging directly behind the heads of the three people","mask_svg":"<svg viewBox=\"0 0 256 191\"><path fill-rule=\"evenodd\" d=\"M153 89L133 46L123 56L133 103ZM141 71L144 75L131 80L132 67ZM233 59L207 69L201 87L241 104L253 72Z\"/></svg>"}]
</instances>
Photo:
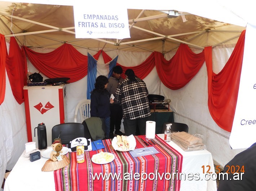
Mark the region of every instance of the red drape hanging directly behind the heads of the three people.
<instances>
[{"instance_id":1,"label":"red drape hanging directly behind the heads of the three people","mask_svg":"<svg viewBox=\"0 0 256 191\"><path fill-rule=\"evenodd\" d=\"M112 58L109 55L107 55L104 51L102 51L102 57L105 63L112 60ZM120 64L116 63L116 65L120 65ZM138 66L133 66L133 67L122 66L124 72L122 73L121 76L122 78L125 78L125 75L124 75L125 71L127 69L132 69L138 78L144 79L147 75L149 75L149 73L153 70L154 67L155 67L155 57L153 52L144 62L142 62Z\"/></svg>"}]
</instances>

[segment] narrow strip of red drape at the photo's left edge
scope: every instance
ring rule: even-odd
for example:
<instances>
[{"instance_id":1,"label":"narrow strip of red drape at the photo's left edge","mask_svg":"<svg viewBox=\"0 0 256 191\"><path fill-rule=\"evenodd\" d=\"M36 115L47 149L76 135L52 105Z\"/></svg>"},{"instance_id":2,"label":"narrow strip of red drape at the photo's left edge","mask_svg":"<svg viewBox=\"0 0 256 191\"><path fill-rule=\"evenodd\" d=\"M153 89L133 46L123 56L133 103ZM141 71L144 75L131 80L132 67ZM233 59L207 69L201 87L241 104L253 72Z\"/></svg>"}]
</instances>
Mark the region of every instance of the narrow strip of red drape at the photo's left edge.
<instances>
[{"instance_id":1,"label":"narrow strip of red drape at the photo's left edge","mask_svg":"<svg viewBox=\"0 0 256 191\"><path fill-rule=\"evenodd\" d=\"M5 95L5 59L6 59L6 44L3 34L0 34L0 105L4 102Z\"/></svg>"}]
</instances>

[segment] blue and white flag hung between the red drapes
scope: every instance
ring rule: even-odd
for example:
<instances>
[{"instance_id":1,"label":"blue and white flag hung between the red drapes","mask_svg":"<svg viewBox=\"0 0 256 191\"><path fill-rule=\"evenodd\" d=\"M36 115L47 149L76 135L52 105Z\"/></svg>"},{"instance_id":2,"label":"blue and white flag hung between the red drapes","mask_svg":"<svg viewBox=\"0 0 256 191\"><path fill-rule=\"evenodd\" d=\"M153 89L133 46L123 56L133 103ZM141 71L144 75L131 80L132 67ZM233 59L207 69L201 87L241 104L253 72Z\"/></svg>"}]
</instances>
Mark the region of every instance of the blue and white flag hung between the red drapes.
<instances>
[{"instance_id":1,"label":"blue and white flag hung between the red drapes","mask_svg":"<svg viewBox=\"0 0 256 191\"><path fill-rule=\"evenodd\" d=\"M100 63L88 53L87 99L91 99L90 92L94 89L94 83L98 76L104 75L108 79L112 76L113 67L115 67L117 59L118 56L106 64Z\"/></svg>"}]
</instances>

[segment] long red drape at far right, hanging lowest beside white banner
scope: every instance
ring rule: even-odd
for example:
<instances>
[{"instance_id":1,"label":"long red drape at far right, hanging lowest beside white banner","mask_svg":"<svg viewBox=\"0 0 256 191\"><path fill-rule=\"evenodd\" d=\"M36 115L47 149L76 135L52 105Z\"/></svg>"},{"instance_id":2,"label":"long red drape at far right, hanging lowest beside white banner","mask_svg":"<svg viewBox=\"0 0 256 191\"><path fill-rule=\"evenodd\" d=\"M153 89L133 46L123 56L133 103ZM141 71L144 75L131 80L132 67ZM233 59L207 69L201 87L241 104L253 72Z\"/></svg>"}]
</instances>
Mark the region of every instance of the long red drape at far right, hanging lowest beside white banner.
<instances>
[{"instance_id":1,"label":"long red drape at far right, hanging lowest beside white banner","mask_svg":"<svg viewBox=\"0 0 256 191\"><path fill-rule=\"evenodd\" d=\"M212 71L212 48L204 48L208 74L208 108L213 120L229 132L231 132L237 106L245 32L241 33L228 62L219 74Z\"/></svg>"}]
</instances>

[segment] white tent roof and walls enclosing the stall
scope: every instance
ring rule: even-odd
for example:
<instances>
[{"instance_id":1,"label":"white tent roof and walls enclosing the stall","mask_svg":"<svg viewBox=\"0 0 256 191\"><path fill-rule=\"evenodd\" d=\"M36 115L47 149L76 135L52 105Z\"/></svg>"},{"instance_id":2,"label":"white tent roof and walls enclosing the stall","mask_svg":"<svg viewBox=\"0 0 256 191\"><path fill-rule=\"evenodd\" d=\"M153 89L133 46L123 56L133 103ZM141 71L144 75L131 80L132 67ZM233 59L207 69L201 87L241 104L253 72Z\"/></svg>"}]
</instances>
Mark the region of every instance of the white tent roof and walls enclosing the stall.
<instances>
[{"instance_id":1,"label":"white tent roof and walls enclosing the stall","mask_svg":"<svg viewBox=\"0 0 256 191\"><path fill-rule=\"evenodd\" d=\"M98 2L100 3L97 5L101 6L106 3ZM111 4L108 2L104 5L106 8L114 5L125 6L128 9L131 27L129 39L75 39L71 1L47 1L48 5L43 5L43 1L37 3L42 4L14 5L8 1L0 2L0 33L5 35L7 45L9 37L13 35L20 45L33 48L36 52L50 52L65 42L73 45L84 55L87 55L87 52L93 55L102 49L112 58L119 55L118 63L124 66L139 65L152 51L165 53L165 59L169 60L180 43L188 44L195 53L201 52L205 46L213 46L213 71L218 73L233 51L240 32L246 29L243 67L250 65L250 60L254 60L251 47L256 41L253 37L256 21L251 17L251 1L243 1L243 4L234 1L215 1L212 5L206 5L202 0L130 0L122 2L122 5L118 1L112 1ZM168 18L169 10L179 11L178 14L183 14L187 21L184 22L181 16ZM28 66L29 71L37 72L30 63ZM251 78L251 75L250 73L244 77ZM44 76L45 78L47 77ZM161 94L171 99L175 121L187 123L191 134L204 135L207 149L212 153L216 163L224 166L235 154L242 151L231 150L230 133L217 126L209 114L205 65L184 88L179 90L166 88L159 80L156 69L153 69L144 81L150 93ZM76 104L86 97L86 87L87 76L75 83L67 84L68 122L74 120ZM240 94L239 92L239 96ZM239 103L237 107L240 107ZM244 111L246 105L240 108ZM24 103L19 105L13 98L7 75L5 100L0 105L0 113L1 180L5 169L13 168L27 141Z\"/></svg>"}]
</instances>

